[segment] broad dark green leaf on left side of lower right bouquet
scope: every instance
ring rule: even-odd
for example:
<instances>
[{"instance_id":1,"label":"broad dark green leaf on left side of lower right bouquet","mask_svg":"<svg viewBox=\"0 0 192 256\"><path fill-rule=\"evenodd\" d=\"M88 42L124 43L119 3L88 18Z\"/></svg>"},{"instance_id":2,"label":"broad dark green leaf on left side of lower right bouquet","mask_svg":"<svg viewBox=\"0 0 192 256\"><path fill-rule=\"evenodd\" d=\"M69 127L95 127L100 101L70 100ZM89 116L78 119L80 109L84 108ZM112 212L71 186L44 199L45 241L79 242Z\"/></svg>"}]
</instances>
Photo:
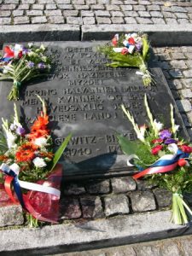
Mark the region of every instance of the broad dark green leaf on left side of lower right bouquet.
<instances>
[{"instance_id":1,"label":"broad dark green leaf on left side of lower right bouquet","mask_svg":"<svg viewBox=\"0 0 192 256\"><path fill-rule=\"evenodd\" d=\"M136 154L137 149L140 147L140 143L131 142L127 137L117 134L120 148L124 154Z\"/></svg>"}]
</instances>

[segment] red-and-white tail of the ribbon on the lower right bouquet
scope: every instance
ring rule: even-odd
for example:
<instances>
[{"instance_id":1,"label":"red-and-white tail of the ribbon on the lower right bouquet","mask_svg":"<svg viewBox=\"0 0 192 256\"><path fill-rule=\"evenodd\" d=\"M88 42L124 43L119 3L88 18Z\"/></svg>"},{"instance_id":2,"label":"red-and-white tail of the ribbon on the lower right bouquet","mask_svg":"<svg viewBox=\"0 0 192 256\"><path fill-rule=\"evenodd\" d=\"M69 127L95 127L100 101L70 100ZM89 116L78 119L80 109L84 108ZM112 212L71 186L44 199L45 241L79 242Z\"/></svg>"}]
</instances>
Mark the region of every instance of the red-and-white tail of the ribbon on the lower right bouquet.
<instances>
[{"instance_id":1,"label":"red-and-white tail of the ribbon on the lower right bouquet","mask_svg":"<svg viewBox=\"0 0 192 256\"><path fill-rule=\"evenodd\" d=\"M154 166L145 169L143 172L138 172L137 174L133 175L134 179L138 179L143 177L147 174L154 174L154 173L163 173L163 172L171 172L177 167L177 162L170 165L170 166Z\"/></svg>"}]
</instances>

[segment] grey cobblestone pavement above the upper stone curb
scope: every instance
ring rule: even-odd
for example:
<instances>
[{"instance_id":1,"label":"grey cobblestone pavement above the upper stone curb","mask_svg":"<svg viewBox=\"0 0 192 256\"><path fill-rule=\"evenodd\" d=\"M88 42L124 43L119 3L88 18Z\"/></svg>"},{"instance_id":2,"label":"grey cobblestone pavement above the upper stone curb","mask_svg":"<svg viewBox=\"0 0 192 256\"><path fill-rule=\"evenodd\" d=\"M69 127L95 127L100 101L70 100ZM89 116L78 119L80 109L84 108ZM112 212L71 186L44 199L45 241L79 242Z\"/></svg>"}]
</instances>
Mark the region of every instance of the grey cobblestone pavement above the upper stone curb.
<instances>
[{"instance_id":1,"label":"grey cobblestone pavement above the upper stone curb","mask_svg":"<svg viewBox=\"0 0 192 256\"><path fill-rule=\"evenodd\" d=\"M0 25L186 24L187 0L0 0Z\"/></svg>"}]
</instances>

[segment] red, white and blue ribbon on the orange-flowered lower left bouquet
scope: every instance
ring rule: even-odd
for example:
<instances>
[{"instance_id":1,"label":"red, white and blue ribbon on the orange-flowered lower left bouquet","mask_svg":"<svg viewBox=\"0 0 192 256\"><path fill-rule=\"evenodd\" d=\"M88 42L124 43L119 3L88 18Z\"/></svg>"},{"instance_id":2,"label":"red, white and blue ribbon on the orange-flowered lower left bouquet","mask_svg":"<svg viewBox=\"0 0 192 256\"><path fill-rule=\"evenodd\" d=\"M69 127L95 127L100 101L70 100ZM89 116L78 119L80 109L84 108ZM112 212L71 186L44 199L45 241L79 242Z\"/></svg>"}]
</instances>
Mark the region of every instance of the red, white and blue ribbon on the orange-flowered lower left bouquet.
<instances>
[{"instance_id":1,"label":"red, white and blue ribbon on the orange-flowered lower left bouquet","mask_svg":"<svg viewBox=\"0 0 192 256\"><path fill-rule=\"evenodd\" d=\"M25 181L20 181L18 175L20 172L20 166L17 164L13 164L11 166L2 164L0 166L0 171L6 174L5 182L4 182L4 189L9 195L10 199L17 203L17 200L15 199L15 195L17 196L18 201L20 202L20 205L27 211L32 214L35 218L38 218L42 221L48 221L48 222L56 222L55 220L51 218L44 218L41 213L37 212L34 207L32 207L29 197L27 195L23 195L21 192L21 188L23 189L29 189L32 191L38 191L43 192L46 194L49 194L52 196L52 199L55 201L59 201L61 192L59 189L55 189L53 187L49 187L49 183L44 182L44 184L38 184L38 183L29 183ZM11 184L14 186L15 195L13 194L13 191L11 189Z\"/></svg>"}]
</instances>

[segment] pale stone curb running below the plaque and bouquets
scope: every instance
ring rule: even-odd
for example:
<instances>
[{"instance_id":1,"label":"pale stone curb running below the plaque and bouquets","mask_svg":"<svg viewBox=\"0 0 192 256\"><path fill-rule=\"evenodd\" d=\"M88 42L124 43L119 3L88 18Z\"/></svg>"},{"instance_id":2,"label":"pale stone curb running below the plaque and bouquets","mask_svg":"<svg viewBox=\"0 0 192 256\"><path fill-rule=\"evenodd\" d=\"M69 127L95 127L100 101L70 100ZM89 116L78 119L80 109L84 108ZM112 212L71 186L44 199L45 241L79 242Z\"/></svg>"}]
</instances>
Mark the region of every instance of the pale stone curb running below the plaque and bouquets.
<instances>
[{"instance_id":1,"label":"pale stone curb running below the plaque and bouquets","mask_svg":"<svg viewBox=\"0 0 192 256\"><path fill-rule=\"evenodd\" d=\"M148 212L42 229L1 230L2 255L48 255L183 235L186 226L169 222L170 211ZM191 229L187 230L189 234Z\"/></svg>"}]
</instances>

